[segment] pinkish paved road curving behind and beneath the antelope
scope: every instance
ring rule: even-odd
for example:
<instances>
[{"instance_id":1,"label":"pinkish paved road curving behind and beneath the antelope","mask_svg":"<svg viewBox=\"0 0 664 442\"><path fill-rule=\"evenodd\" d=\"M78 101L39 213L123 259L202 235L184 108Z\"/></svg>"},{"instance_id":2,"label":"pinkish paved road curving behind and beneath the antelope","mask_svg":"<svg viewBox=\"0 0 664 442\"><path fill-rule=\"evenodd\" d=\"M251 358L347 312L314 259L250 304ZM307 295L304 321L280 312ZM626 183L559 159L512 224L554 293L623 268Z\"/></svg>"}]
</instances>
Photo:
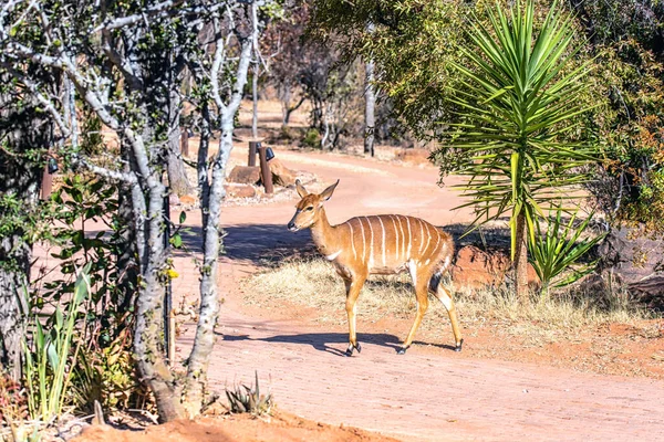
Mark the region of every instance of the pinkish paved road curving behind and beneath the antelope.
<instances>
[{"instance_id":1,"label":"pinkish paved road curving behind and beneath the antelope","mask_svg":"<svg viewBox=\"0 0 664 442\"><path fill-rule=\"evenodd\" d=\"M312 171L325 182L341 178L326 204L332 223L387 212L422 217L438 225L469 218L468 212L449 211L458 197L435 185L437 175L430 167L315 154L278 156L288 167ZM408 441L664 440L661 381L469 359L446 348L432 352L415 346L397 356L398 337L406 330L363 334L361 318L363 351L345 358L345 327L274 319L282 316L270 312L241 313L238 281L256 269L266 250L289 250L310 241L309 232L286 230L293 204L294 200L224 210L229 236L228 254L220 264L226 303L210 366L215 388L251 383L258 370L261 386L269 386L278 406L288 411ZM197 217L191 212L188 222L196 224ZM189 240L196 240L195 231ZM197 277L190 259L178 257L176 269L181 275L174 286L176 294L191 293ZM178 341L183 349L191 344L191 332L188 327Z\"/></svg>"}]
</instances>

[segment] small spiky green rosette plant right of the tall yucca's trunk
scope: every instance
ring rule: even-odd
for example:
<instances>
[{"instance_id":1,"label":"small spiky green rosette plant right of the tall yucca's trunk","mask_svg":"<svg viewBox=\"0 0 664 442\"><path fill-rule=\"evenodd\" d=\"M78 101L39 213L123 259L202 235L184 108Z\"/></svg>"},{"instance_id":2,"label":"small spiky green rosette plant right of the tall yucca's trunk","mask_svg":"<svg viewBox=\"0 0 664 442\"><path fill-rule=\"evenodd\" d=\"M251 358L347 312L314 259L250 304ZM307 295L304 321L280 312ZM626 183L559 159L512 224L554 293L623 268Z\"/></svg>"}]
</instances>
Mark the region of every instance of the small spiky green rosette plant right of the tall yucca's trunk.
<instances>
[{"instance_id":1,"label":"small spiky green rosette plant right of the tall yucca's trunk","mask_svg":"<svg viewBox=\"0 0 664 442\"><path fill-rule=\"evenodd\" d=\"M556 218L548 218L547 230L542 232L540 223L536 222L536 234L529 236L530 263L542 283L542 293L549 293L549 287L564 287L593 271L595 262L572 267L581 257L602 241L605 234L594 238L580 238L588 230L592 214L580 224L574 225L578 211L567 224L562 223L562 209L558 208ZM566 274L566 271L571 272Z\"/></svg>"}]
</instances>

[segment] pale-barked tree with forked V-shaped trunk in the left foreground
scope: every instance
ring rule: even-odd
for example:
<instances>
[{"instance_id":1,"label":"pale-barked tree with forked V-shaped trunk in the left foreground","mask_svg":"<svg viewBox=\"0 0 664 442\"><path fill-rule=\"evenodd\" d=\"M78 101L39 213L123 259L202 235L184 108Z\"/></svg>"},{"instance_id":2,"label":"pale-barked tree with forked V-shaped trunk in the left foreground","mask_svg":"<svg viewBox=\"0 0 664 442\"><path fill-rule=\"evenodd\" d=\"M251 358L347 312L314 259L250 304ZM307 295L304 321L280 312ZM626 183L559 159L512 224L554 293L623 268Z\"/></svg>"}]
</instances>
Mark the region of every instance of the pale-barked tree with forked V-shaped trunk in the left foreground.
<instances>
[{"instance_id":1,"label":"pale-barked tree with forked V-shaped trunk in the left foreground","mask_svg":"<svg viewBox=\"0 0 664 442\"><path fill-rule=\"evenodd\" d=\"M269 6L261 2L263 8ZM251 17L251 4L247 2L205 0L104 2L103 8L75 1L51 4L15 0L0 14L0 66L22 82L27 93L45 109L59 129L59 138L72 138L72 125L63 118L63 110L70 108L73 97L64 102L62 96L51 94L23 69L28 63L71 81L79 96L121 141L124 162L121 157L111 167L102 167L75 148L71 158L74 165L123 182L128 189L141 281L134 357L163 420L196 414L205 400L207 361L219 309L216 272L222 238L219 215L225 168L247 82L251 42L259 31ZM174 54L174 45L181 52ZM157 318L163 317L164 284L173 274L163 238L163 178L173 127L174 107L169 103L181 80L176 74L181 69L176 67L183 64L196 78L194 101L201 122L198 178L204 260L200 320L187 376L180 381L165 360ZM220 130L221 141L218 154L208 162L212 130Z\"/></svg>"}]
</instances>

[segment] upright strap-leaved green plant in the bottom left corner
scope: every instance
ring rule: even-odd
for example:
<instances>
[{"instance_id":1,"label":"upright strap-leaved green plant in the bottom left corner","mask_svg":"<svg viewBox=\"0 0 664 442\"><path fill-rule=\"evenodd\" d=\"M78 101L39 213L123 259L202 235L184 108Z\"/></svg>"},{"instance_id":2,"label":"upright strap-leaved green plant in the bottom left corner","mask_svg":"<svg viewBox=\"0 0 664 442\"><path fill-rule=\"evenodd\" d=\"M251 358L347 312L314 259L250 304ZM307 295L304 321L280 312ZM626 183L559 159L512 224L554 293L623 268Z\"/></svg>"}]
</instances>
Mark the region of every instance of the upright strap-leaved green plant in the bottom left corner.
<instances>
[{"instance_id":1,"label":"upright strap-leaved green plant in the bottom left corner","mask_svg":"<svg viewBox=\"0 0 664 442\"><path fill-rule=\"evenodd\" d=\"M74 327L79 307L89 296L91 287L89 272L90 265L86 265L79 273L66 314L56 305L45 326L39 315L29 317L31 343L24 343L28 407L32 419L45 424L51 424L60 417L66 398L72 360L76 359L79 351L76 346L72 352Z\"/></svg>"}]
</instances>

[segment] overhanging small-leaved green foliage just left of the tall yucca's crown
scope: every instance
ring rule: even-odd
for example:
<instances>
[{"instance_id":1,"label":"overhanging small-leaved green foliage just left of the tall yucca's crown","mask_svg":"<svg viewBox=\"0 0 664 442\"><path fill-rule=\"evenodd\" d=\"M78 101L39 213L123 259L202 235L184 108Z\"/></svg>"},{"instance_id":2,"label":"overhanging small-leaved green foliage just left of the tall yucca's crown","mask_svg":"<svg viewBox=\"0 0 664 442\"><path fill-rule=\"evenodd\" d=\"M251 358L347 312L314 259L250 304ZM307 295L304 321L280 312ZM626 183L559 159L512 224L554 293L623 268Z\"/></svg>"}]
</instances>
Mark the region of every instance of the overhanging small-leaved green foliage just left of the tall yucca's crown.
<instances>
[{"instance_id":1,"label":"overhanging small-leaved green foliage just left of the tall yucca's crown","mask_svg":"<svg viewBox=\"0 0 664 442\"><path fill-rule=\"evenodd\" d=\"M376 88L417 138L447 115L446 87L456 78L468 3L460 0L317 0L310 32L376 65ZM371 27L370 27L371 24Z\"/></svg>"}]
</instances>

